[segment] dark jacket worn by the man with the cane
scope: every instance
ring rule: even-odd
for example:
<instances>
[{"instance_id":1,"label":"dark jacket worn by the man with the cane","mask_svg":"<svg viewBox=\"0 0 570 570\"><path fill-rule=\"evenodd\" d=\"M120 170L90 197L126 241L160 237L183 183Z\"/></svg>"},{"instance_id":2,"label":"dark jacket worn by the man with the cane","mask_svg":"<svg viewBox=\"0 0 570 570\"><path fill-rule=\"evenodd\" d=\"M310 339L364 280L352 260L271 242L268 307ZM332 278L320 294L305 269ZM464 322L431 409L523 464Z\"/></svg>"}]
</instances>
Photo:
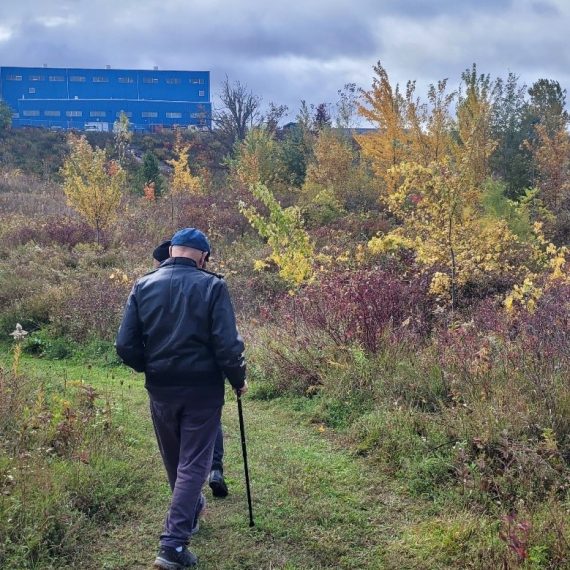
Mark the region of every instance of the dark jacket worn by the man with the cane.
<instances>
[{"instance_id":1,"label":"dark jacket worn by the man with the cane","mask_svg":"<svg viewBox=\"0 0 570 570\"><path fill-rule=\"evenodd\" d=\"M202 406L224 399L224 376L245 381L244 345L225 281L184 257L167 259L129 295L116 341L151 395L184 390Z\"/></svg>"}]
</instances>

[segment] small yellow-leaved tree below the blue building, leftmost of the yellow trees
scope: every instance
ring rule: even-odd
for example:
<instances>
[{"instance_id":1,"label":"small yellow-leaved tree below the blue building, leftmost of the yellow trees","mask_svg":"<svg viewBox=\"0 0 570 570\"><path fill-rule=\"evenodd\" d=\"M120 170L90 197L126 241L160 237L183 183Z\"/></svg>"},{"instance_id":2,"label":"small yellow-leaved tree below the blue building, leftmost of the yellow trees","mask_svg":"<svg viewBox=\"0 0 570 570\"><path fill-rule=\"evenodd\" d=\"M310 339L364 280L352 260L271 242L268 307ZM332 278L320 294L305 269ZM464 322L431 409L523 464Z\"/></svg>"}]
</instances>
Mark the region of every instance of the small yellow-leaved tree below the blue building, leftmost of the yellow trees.
<instances>
[{"instance_id":1,"label":"small yellow-leaved tree below the blue building, leftmost of the yellow trees","mask_svg":"<svg viewBox=\"0 0 570 570\"><path fill-rule=\"evenodd\" d=\"M84 136L69 137L71 152L62 167L63 190L68 204L95 230L101 231L116 217L121 201L125 172L115 161L107 160L103 149L93 149Z\"/></svg>"}]
</instances>

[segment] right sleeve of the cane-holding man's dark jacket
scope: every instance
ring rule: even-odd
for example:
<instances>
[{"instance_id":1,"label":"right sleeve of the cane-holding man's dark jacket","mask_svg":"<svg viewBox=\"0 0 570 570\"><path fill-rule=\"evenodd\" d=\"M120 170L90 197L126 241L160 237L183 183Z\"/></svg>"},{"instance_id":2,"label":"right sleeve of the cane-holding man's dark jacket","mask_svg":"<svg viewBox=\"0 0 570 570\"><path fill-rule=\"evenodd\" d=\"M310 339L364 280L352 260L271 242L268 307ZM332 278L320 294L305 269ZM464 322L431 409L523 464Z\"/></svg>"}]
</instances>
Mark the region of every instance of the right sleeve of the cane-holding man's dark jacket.
<instances>
[{"instance_id":1,"label":"right sleeve of the cane-holding man's dark jacket","mask_svg":"<svg viewBox=\"0 0 570 570\"><path fill-rule=\"evenodd\" d=\"M218 366L230 384L240 389L245 383L244 344L238 333L234 308L225 281L213 286L211 304L212 347Z\"/></svg>"}]
</instances>

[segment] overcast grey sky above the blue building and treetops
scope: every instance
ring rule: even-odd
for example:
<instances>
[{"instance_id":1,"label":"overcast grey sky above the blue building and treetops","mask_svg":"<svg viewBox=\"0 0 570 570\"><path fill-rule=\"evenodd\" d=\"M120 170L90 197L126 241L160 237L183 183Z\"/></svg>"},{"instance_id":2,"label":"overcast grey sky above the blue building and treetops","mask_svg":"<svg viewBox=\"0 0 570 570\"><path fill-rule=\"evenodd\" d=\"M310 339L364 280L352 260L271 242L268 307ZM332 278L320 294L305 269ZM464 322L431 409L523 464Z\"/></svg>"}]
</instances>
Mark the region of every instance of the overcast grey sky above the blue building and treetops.
<instances>
[{"instance_id":1,"label":"overcast grey sky above the blue building and treetops","mask_svg":"<svg viewBox=\"0 0 570 570\"><path fill-rule=\"evenodd\" d=\"M381 60L423 87L481 72L570 88L570 0L1 0L0 65L209 70L263 98L334 105Z\"/></svg>"}]
</instances>

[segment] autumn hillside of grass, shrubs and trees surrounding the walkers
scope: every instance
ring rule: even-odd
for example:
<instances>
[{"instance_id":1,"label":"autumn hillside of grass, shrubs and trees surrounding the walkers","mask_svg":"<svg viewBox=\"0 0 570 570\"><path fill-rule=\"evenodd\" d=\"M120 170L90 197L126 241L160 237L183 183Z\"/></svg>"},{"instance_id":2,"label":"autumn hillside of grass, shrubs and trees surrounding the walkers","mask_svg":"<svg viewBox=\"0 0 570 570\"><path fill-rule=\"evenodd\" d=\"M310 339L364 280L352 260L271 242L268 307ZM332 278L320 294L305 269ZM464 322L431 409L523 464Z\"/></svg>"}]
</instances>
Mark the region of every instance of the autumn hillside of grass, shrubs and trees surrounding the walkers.
<instances>
[{"instance_id":1,"label":"autumn hillside of grass, shrubs and trees surrounding the walkers","mask_svg":"<svg viewBox=\"0 0 570 570\"><path fill-rule=\"evenodd\" d=\"M241 140L1 133L0 565L152 558L167 486L112 343L195 226L246 338L260 517L229 406L204 567L570 568L564 108L553 80L473 66L424 96L379 63Z\"/></svg>"}]
</instances>

